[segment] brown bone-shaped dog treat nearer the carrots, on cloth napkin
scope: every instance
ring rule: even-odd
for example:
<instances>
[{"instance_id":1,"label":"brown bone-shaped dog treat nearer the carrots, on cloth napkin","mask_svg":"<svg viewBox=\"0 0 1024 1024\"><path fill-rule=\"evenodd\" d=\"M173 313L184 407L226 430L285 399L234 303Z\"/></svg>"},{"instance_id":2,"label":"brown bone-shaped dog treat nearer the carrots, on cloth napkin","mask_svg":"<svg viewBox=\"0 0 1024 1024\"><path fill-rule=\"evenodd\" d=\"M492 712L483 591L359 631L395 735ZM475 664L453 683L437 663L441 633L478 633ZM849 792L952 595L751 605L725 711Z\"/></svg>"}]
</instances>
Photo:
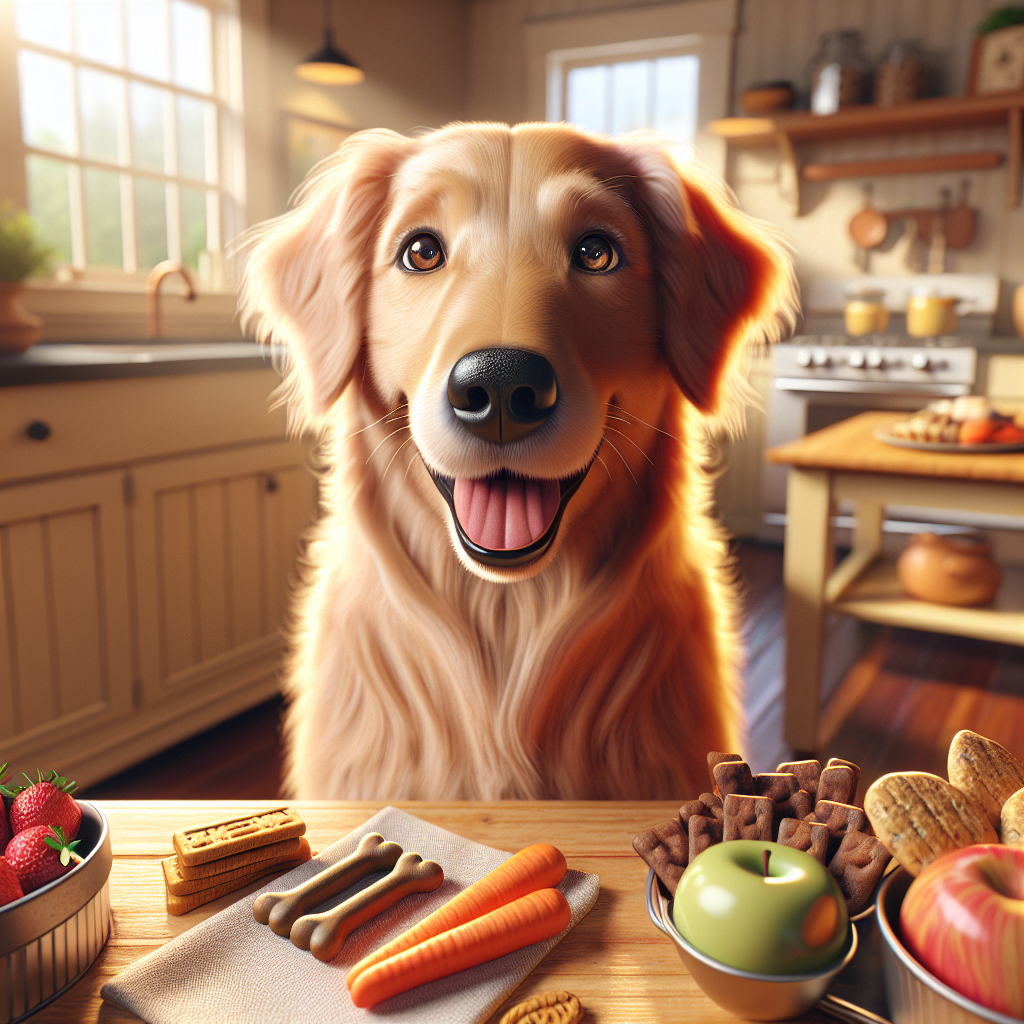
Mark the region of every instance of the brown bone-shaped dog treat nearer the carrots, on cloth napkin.
<instances>
[{"instance_id":1,"label":"brown bone-shaped dog treat nearer the carrots, on cloth napkin","mask_svg":"<svg viewBox=\"0 0 1024 1024\"><path fill-rule=\"evenodd\" d=\"M429 893L444 881L440 864L418 853L403 853L390 874L324 913L310 913L292 925L292 942L321 961L332 961L356 928L411 893Z\"/></svg>"}]
</instances>

